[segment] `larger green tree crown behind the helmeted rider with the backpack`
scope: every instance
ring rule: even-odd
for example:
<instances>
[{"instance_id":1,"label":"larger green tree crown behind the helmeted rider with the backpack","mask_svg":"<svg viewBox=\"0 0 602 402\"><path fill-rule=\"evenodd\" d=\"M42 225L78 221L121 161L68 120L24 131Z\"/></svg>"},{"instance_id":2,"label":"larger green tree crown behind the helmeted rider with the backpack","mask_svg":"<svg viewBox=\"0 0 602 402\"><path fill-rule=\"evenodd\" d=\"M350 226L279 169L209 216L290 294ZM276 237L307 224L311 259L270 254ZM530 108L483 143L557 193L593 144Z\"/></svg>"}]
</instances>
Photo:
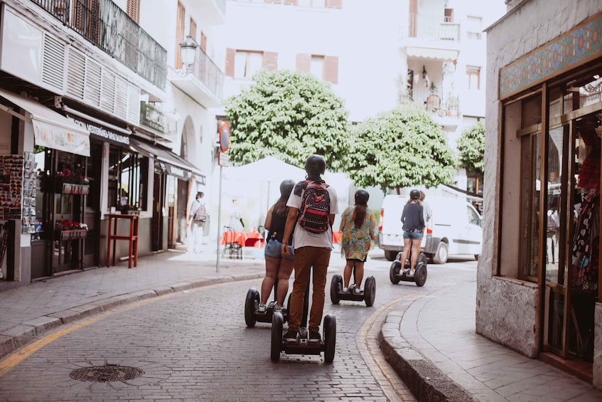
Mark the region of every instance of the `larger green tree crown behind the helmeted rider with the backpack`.
<instances>
[{"instance_id":1,"label":"larger green tree crown behind the helmeted rider with the backpack","mask_svg":"<svg viewBox=\"0 0 602 402\"><path fill-rule=\"evenodd\" d=\"M232 129L230 161L247 164L273 156L303 166L311 154L341 167L350 137L343 100L311 75L262 70L254 84L224 101Z\"/></svg>"}]
</instances>

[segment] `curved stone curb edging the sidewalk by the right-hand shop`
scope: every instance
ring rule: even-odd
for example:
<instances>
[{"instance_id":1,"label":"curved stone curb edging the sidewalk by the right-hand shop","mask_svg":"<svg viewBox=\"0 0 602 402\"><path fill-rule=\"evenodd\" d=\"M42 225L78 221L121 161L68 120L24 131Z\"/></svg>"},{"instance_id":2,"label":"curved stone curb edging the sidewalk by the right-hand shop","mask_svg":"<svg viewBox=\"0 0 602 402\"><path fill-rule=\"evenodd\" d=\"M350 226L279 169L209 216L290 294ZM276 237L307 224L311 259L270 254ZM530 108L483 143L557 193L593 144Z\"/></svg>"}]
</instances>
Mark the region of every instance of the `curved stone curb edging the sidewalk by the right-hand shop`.
<instances>
[{"instance_id":1,"label":"curved stone curb edging the sidewalk by the right-hand shop","mask_svg":"<svg viewBox=\"0 0 602 402\"><path fill-rule=\"evenodd\" d=\"M449 379L402 337L400 328L403 315L403 311L387 314L378 334L378 342L385 360L414 397L425 402L476 402L471 393Z\"/></svg>"}]
</instances>

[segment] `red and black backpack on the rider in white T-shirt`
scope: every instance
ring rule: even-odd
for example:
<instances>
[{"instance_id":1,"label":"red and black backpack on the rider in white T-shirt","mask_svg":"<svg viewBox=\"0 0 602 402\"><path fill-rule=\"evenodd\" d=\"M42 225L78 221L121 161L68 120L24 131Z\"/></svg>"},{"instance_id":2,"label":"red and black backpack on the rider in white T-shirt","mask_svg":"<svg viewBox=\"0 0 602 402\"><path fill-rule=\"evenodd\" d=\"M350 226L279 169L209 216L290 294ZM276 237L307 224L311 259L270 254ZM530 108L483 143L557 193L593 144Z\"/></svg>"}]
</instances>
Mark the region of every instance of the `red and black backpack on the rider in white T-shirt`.
<instances>
[{"instance_id":1,"label":"red and black backpack on the rider in white T-shirt","mask_svg":"<svg viewBox=\"0 0 602 402\"><path fill-rule=\"evenodd\" d=\"M299 209L299 225L312 233L323 233L330 226L330 194L324 181L305 181Z\"/></svg>"}]
</instances>

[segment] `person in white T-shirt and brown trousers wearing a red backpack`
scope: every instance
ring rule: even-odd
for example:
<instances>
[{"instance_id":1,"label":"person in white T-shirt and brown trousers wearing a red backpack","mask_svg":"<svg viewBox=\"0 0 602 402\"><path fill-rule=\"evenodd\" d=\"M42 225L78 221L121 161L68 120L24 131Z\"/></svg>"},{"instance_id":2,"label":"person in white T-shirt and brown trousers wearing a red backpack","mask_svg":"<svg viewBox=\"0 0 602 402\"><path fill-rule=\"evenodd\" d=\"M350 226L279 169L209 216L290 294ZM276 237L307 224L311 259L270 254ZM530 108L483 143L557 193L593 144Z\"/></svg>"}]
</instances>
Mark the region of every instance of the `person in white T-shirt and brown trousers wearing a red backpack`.
<instances>
[{"instance_id":1,"label":"person in white T-shirt and brown trousers wearing a red backpack","mask_svg":"<svg viewBox=\"0 0 602 402\"><path fill-rule=\"evenodd\" d=\"M320 343L320 324L324 310L326 274L333 249L333 222L338 213L335 189L321 178L326 171L326 161L319 155L311 155L305 162L307 179L294 186L286 206L286 218L281 253L290 255L289 239L293 229L295 254L295 281L291 294L289 327L284 333L284 342L297 342L299 326L303 318L306 287L313 268L313 295L309 312L309 342Z\"/></svg>"}]
</instances>

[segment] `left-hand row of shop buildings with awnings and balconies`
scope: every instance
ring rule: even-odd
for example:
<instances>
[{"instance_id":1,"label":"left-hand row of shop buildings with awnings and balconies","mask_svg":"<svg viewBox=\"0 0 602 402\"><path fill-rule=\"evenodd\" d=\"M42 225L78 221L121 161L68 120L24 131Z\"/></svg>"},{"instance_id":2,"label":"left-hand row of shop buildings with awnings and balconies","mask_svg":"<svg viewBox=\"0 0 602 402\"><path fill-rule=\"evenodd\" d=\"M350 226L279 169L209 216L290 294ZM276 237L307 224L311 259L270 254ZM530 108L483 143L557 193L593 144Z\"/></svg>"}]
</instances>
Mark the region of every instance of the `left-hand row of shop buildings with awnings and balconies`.
<instances>
[{"instance_id":1,"label":"left-hand row of shop buildings with awnings and balconies","mask_svg":"<svg viewBox=\"0 0 602 402\"><path fill-rule=\"evenodd\" d=\"M0 1L0 288L107 265L121 211L138 217L139 255L186 243L213 169L222 73L206 52L225 1L148 3Z\"/></svg>"}]
</instances>

